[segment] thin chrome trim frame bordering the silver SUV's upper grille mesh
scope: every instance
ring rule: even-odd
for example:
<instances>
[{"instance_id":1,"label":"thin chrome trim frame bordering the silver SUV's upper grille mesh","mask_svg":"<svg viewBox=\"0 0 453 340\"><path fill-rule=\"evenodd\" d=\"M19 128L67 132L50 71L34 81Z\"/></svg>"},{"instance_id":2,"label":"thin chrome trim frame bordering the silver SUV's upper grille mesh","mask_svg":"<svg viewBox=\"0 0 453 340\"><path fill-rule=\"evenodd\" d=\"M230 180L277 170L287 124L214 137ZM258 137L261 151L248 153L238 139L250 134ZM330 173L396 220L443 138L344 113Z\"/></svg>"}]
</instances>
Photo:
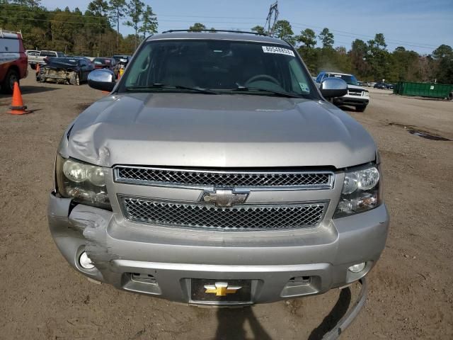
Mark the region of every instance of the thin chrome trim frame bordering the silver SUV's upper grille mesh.
<instances>
[{"instance_id":1,"label":"thin chrome trim frame bordering the silver SUV's upper grille mesh","mask_svg":"<svg viewBox=\"0 0 453 340\"><path fill-rule=\"evenodd\" d=\"M166 183L161 181L145 181L139 179L125 179L120 177L120 169L144 169L156 171L178 171L178 172L196 172L196 173L210 173L210 174L327 174L329 176L328 183L326 184L305 184L301 186L197 186L190 184ZM187 189L200 189L206 191L214 191L215 188L234 188L234 192L240 193L241 191L250 191L251 189L258 189L260 191L290 191L290 190L325 190L332 189L335 183L335 173L333 171L219 171L209 169L176 169L176 168L159 168L151 166L124 166L117 165L113 168L113 181L115 183L127 183L138 186L159 186L166 188L187 188Z\"/></svg>"}]
</instances>

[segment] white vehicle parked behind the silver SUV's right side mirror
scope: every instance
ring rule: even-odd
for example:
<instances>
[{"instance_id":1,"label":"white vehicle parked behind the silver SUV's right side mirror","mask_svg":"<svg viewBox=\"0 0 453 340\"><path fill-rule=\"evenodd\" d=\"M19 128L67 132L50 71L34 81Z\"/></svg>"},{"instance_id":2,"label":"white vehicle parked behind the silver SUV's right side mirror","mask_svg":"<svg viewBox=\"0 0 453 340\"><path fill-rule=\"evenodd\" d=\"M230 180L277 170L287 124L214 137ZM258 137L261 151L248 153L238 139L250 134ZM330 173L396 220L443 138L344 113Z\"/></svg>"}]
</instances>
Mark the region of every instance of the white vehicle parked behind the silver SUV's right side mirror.
<instances>
[{"instance_id":1,"label":"white vehicle parked behind the silver SUV's right side mirror","mask_svg":"<svg viewBox=\"0 0 453 340\"><path fill-rule=\"evenodd\" d=\"M321 84L321 82L328 77L343 79L348 84L348 93L345 94L345 96L333 98L333 103L335 105L354 106L355 111L365 111L369 103L369 91L358 84L354 75L338 72L321 72L318 74L318 77L316 77L316 83Z\"/></svg>"}]
</instances>

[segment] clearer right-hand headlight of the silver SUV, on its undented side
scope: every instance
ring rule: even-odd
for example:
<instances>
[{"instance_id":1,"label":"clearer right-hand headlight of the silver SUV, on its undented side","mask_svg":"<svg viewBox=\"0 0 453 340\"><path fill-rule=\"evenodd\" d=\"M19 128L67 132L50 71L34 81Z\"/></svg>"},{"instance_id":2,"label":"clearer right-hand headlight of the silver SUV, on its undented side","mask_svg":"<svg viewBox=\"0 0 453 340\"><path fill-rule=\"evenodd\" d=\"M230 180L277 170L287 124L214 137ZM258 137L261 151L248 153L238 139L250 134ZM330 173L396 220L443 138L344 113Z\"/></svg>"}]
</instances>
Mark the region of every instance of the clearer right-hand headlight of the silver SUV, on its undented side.
<instances>
[{"instance_id":1,"label":"clearer right-hand headlight of the silver SUV, on its undented side","mask_svg":"<svg viewBox=\"0 0 453 340\"><path fill-rule=\"evenodd\" d=\"M334 218L345 217L376 208L380 202L377 166L347 171Z\"/></svg>"}]
</instances>

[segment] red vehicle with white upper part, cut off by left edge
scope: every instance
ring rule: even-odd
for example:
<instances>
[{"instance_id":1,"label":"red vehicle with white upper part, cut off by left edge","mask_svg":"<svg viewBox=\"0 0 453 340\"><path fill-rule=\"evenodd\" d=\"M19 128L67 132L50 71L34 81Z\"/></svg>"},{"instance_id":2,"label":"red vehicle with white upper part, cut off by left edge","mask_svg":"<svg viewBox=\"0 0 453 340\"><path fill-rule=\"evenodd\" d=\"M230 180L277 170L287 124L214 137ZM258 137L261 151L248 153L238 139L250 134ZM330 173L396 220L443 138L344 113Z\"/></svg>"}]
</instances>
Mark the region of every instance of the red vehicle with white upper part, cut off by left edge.
<instances>
[{"instance_id":1,"label":"red vehicle with white upper part, cut off by left edge","mask_svg":"<svg viewBox=\"0 0 453 340\"><path fill-rule=\"evenodd\" d=\"M27 77L28 57L23 48L22 34L0 29L0 87L12 94L14 83Z\"/></svg>"}]
</instances>

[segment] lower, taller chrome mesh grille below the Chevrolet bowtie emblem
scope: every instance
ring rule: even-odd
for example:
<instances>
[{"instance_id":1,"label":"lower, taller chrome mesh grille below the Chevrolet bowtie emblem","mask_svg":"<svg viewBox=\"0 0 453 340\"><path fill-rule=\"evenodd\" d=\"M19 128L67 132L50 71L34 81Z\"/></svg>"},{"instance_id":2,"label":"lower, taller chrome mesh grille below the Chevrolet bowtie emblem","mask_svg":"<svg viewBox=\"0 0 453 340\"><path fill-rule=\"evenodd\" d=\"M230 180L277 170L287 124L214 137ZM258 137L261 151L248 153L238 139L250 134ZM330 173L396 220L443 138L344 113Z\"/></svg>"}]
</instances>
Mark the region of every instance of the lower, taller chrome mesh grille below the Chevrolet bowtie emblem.
<instances>
[{"instance_id":1,"label":"lower, taller chrome mesh grille below the Chevrolet bowtie emblem","mask_svg":"<svg viewBox=\"0 0 453 340\"><path fill-rule=\"evenodd\" d=\"M199 229L301 229L316 227L326 202L294 205L240 205L217 208L206 204L170 203L144 198L120 197L128 220Z\"/></svg>"}]
</instances>

